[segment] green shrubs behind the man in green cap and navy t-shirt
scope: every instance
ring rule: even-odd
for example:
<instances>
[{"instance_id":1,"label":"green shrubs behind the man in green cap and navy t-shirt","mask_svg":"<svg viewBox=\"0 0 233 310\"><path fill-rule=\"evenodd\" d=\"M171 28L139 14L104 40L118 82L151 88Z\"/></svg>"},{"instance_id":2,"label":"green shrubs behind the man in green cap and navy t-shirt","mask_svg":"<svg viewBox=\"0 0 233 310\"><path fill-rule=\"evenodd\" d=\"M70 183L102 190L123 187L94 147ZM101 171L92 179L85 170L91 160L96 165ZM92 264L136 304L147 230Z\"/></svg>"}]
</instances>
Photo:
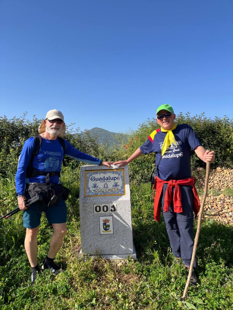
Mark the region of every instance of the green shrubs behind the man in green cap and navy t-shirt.
<instances>
[{"instance_id":1,"label":"green shrubs behind the man in green cap and navy t-shirt","mask_svg":"<svg viewBox=\"0 0 233 310\"><path fill-rule=\"evenodd\" d=\"M201 115L190 116L190 113L179 113L176 115L177 124L188 124L196 132L203 147L214 150L216 159L213 166L233 167L233 120L228 117L215 117L214 119ZM139 128L133 132L126 144L121 148L121 160L127 159L132 153L142 145L148 136L159 128L155 118L148 119L147 122L139 124ZM130 163L130 179L139 182L148 182L155 155L149 154L141 156ZM198 166L205 167L205 163L197 157L194 151L191 152L191 167L194 170Z\"/></svg>"}]
</instances>

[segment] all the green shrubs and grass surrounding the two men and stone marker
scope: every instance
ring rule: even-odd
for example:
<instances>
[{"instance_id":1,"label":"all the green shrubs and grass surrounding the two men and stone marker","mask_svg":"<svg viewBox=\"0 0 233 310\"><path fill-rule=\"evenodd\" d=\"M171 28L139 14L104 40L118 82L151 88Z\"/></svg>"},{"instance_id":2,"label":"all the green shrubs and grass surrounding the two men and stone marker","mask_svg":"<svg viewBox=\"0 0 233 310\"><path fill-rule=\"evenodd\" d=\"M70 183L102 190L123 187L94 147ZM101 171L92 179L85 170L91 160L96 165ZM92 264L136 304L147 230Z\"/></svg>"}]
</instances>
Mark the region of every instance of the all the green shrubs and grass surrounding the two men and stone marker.
<instances>
[{"instance_id":1,"label":"all the green shrubs and grass surrounding the two men and stone marker","mask_svg":"<svg viewBox=\"0 0 233 310\"><path fill-rule=\"evenodd\" d=\"M191 117L179 114L178 124L188 123L199 136L203 146L216 151L212 168L233 168L233 122L206 118L203 114ZM0 213L17 206L14 176L25 139L37 133L40 120L0 117ZM80 151L103 160L126 159L158 128L154 119L140 124L120 148L110 151L91 136L74 136L67 131L65 138ZM141 156L130 163L130 189L133 237L137 260L106 261L79 260L79 177L81 162L66 158L61 182L71 189L67 200L68 232L57 254L57 262L66 272L54 277L49 271L41 274L35 286L30 286L30 266L24 250L25 228L22 213L0 220L0 308L1 309L232 309L233 304L233 226L208 217L202 224L197 249L197 287L190 286L185 303L180 302L186 275L181 263L171 253L163 219L153 220L152 193L148 179L154 155ZM204 171L196 170L205 164L192 154L193 175L197 188L203 193ZM212 177L213 182L215 176ZM228 181L228 179L227 179ZM224 181L225 182L225 181ZM229 180L230 182L230 180ZM213 183L215 184L215 183ZM233 197L228 188L209 190L209 196L223 194ZM225 197L225 196L224 196ZM211 198L215 201L214 198ZM225 199L225 198L224 198ZM232 198L228 199L231 201ZM217 200L216 198L216 201ZM206 212L208 212L210 200ZM221 212L221 211L220 211ZM221 214L222 215L222 214ZM194 225L194 233L196 223ZM52 229L42 216L38 235L38 262L47 255Z\"/></svg>"}]
</instances>

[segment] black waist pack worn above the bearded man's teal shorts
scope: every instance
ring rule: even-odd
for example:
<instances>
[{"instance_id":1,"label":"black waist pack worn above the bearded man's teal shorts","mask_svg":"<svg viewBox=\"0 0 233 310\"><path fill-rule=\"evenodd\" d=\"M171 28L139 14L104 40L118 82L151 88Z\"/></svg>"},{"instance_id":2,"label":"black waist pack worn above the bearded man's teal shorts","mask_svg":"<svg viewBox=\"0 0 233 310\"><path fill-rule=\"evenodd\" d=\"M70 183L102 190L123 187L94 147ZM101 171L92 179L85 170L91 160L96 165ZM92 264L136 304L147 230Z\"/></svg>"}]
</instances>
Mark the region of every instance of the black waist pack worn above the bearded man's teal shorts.
<instances>
[{"instance_id":1,"label":"black waist pack worn above the bearded man's teal shorts","mask_svg":"<svg viewBox=\"0 0 233 310\"><path fill-rule=\"evenodd\" d=\"M30 198L37 194L43 197L43 202L48 206L53 206L60 199L66 200L70 190L62 184L50 183L29 183L26 192Z\"/></svg>"}]
</instances>

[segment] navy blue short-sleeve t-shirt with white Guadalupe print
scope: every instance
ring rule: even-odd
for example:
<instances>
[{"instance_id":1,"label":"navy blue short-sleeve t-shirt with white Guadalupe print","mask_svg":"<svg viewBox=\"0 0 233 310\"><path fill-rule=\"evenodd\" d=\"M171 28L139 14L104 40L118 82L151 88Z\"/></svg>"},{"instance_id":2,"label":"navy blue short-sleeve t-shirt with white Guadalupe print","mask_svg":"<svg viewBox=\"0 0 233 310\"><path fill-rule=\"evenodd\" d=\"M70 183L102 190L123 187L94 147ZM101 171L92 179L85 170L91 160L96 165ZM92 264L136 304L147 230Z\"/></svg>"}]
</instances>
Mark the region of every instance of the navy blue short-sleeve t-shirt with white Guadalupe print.
<instances>
[{"instance_id":1,"label":"navy blue short-sleeve t-shirt with white Guadalupe print","mask_svg":"<svg viewBox=\"0 0 233 310\"><path fill-rule=\"evenodd\" d=\"M160 179L181 180L191 177L191 149L201 145L192 127L187 124L177 125L173 131L176 145L171 143L166 152L162 156L162 144L167 135L166 132L159 131L153 139L153 143L148 139L140 150L143 154L154 152L156 154L156 166L158 166L157 175Z\"/></svg>"}]
</instances>

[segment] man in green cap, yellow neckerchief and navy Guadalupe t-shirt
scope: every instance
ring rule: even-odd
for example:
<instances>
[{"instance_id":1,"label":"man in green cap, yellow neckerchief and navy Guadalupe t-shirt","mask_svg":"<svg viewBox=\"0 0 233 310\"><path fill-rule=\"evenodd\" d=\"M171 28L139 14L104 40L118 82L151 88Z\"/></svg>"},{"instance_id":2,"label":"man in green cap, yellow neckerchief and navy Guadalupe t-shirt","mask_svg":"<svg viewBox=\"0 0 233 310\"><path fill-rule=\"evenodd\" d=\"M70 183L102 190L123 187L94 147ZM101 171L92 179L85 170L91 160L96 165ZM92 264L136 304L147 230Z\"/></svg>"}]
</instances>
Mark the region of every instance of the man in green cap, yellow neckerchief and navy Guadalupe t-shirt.
<instances>
[{"instance_id":1,"label":"man in green cap, yellow neckerchief and navy Guadalupe t-shirt","mask_svg":"<svg viewBox=\"0 0 233 310\"><path fill-rule=\"evenodd\" d=\"M122 167L142 154L156 154L154 218L159 220L162 206L172 252L189 268L194 245L193 210L196 215L199 210L195 179L191 177L191 148L203 162L212 163L215 155L214 151L203 148L189 125L174 122L176 115L169 104L159 106L156 115L161 128L153 131L126 161L115 162L114 165ZM197 283L194 272L191 282Z\"/></svg>"}]
</instances>

